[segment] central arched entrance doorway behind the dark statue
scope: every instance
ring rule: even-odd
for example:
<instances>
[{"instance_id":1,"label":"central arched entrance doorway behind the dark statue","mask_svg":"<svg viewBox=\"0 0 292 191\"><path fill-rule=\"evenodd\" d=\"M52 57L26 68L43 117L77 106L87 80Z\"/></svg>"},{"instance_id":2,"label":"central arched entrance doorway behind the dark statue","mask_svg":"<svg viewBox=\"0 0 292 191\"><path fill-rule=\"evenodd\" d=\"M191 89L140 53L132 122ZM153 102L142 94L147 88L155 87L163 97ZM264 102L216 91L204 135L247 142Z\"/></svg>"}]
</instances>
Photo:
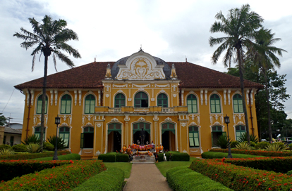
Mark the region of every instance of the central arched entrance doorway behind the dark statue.
<instances>
[{"instance_id":1,"label":"central arched entrance doorway behind the dark statue","mask_svg":"<svg viewBox=\"0 0 292 191\"><path fill-rule=\"evenodd\" d=\"M144 145L146 145L146 142L151 143L151 129L150 129L150 124L148 123L135 123L133 124L133 143L137 144L137 141L140 141L141 143L141 138L140 138L140 132L142 129L145 131L145 140L144 140Z\"/></svg>"}]
</instances>

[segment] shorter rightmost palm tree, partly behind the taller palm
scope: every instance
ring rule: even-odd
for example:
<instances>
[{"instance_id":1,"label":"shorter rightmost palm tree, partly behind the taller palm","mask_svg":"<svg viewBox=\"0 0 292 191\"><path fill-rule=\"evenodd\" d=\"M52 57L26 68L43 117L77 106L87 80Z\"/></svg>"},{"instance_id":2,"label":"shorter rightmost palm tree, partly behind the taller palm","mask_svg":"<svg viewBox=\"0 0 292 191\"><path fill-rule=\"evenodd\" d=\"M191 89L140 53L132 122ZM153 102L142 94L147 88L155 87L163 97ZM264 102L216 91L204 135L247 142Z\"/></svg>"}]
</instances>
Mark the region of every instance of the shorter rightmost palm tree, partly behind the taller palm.
<instances>
[{"instance_id":1,"label":"shorter rightmost palm tree, partly behind the taller palm","mask_svg":"<svg viewBox=\"0 0 292 191\"><path fill-rule=\"evenodd\" d=\"M276 57L275 53L282 55L282 51L286 52L284 49L276 48L272 46L276 41L281 39L274 39L274 33L271 32L271 29L260 29L255 34L255 43L252 44L250 49L247 52L247 58L252 60L257 69L262 71L264 75L264 88L266 91L267 99L267 118L268 118L268 127L269 127L269 141L272 141L272 128L271 128L271 117L270 117L270 103L269 103L269 90L267 83L267 72L268 70L274 70L274 67L280 67L281 63L279 58Z\"/></svg>"}]
</instances>

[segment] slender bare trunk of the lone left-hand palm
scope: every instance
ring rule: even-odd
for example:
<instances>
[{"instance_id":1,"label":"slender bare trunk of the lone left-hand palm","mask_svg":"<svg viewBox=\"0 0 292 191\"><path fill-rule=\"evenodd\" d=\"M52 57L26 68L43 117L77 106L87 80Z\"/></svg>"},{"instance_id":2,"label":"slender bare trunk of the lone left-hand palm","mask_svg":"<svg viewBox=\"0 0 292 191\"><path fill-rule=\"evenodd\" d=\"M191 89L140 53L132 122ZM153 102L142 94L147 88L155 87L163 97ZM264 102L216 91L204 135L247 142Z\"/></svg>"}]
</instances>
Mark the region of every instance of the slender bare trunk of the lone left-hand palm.
<instances>
[{"instance_id":1,"label":"slender bare trunk of the lone left-hand palm","mask_svg":"<svg viewBox=\"0 0 292 191\"><path fill-rule=\"evenodd\" d=\"M40 132L40 143L41 147L44 145L44 112L46 107L46 89L47 89L47 71L48 70L48 56L44 55L44 82L42 87L42 115L41 115L41 132ZM41 152L43 149L41 150Z\"/></svg>"}]
</instances>

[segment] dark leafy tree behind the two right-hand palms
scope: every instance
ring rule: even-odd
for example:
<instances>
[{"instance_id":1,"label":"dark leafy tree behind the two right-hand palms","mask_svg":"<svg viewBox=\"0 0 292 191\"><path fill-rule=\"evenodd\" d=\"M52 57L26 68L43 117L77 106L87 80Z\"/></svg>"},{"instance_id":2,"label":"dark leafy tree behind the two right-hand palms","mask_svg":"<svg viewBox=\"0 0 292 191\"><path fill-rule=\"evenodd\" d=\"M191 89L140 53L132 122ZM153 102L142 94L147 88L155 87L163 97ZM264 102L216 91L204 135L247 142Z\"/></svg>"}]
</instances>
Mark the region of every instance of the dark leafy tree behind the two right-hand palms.
<instances>
[{"instance_id":1,"label":"dark leafy tree behind the two right-hand palms","mask_svg":"<svg viewBox=\"0 0 292 191\"><path fill-rule=\"evenodd\" d=\"M244 78L250 81L257 82L259 84L265 84L264 76L260 70L253 72L252 66L253 63L245 62L245 73ZM237 68L229 68L228 74L234 75L238 77L238 67ZM287 94L287 88L285 86L286 83L286 74L279 75L276 71L268 70L267 71L267 87L269 91L270 97L270 110L271 110L271 123L272 123L272 136L276 138L279 135L279 129L286 129L289 132L291 128L292 132L292 123L287 123L286 114L284 112L284 102L290 98L290 95ZM259 134L259 139L267 138L269 135L269 130L267 126L267 97L266 97L266 89L260 89L255 94L255 108L257 112L257 129ZM281 132L280 132L281 133ZM284 133L281 133L284 135ZM286 135L286 133L285 133ZM291 134L292 135L292 134Z\"/></svg>"}]
</instances>

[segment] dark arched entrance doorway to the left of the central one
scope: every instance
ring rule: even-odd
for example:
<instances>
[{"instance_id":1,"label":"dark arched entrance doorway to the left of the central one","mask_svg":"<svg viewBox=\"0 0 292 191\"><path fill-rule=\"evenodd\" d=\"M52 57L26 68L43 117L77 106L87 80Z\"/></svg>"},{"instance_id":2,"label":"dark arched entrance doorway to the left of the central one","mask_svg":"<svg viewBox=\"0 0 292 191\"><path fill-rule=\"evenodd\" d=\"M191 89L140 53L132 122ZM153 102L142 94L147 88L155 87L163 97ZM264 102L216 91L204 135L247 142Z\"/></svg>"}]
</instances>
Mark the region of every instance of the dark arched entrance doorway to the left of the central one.
<instances>
[{"instance_id":1,"label":"dark arched entrance doorway to the left of the central one","mask_svg":"<svg viewBox=\"0 0 292 191\"><path fill-rule=\"evenodd\" d=\"M121 124L109 124L107 135L107 152L119 152L121 150Z\"/></svg>"}]
</instances>

